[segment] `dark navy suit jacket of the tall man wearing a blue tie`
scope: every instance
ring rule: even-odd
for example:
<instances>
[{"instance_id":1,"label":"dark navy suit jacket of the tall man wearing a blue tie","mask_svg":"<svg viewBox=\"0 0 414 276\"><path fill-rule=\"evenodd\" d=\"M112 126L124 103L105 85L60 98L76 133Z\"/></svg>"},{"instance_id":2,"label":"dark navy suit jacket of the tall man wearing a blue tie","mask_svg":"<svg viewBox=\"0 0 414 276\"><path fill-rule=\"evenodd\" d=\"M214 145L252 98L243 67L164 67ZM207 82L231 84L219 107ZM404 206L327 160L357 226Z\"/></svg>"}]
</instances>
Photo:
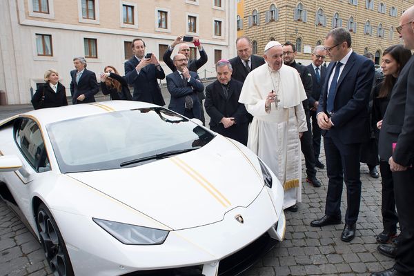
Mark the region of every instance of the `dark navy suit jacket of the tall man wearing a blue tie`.
<instances>
[{"instance_id":1,"label":"dark navy suit jacket of the tall man wearing a blue tie","mask_svg":"<svg viewBox=\"0 0 414 276\"><path fill-rule=\"evenodd\" d=\"M329 77L335 62L329 63L326 79L319 98L317 113L326 112ZM343 144L362 143L369 139L368 100L373 85L374 63L352 52L337 81L333 127L326 135L337 137ZM325 134L325 131L322 132Z\"/></svg>"}]
</instances>

